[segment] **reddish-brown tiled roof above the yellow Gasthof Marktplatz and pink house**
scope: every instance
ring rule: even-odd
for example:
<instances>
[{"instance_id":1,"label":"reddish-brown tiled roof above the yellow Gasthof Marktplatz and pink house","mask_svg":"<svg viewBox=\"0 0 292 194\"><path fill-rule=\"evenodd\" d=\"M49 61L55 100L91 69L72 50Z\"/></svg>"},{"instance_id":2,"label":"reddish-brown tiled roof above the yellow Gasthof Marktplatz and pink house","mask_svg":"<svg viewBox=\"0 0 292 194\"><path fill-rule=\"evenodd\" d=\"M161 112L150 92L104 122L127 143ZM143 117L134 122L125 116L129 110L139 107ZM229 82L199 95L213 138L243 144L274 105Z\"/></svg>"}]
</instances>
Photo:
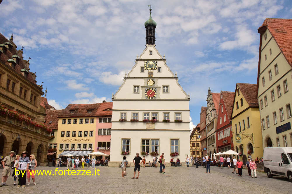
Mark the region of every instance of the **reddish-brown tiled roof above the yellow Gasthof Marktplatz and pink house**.
<instances>
[{"instance_id":1,"label":"reddish-brown tiled roof above the yellow Gasthof Marktplatz and pink house","mask_svg":"<svg viewBox=\"0 0 292 194\"><path fill-rule=\"evenodd\" d=\"M72 111L74 112L71 113ZM90 111L90 113L88 113L88 111ZM58 117L95 117L105 115L112 115L112 102L68 104L68 106L60 112Z\"/></svg>"}]
</instances>

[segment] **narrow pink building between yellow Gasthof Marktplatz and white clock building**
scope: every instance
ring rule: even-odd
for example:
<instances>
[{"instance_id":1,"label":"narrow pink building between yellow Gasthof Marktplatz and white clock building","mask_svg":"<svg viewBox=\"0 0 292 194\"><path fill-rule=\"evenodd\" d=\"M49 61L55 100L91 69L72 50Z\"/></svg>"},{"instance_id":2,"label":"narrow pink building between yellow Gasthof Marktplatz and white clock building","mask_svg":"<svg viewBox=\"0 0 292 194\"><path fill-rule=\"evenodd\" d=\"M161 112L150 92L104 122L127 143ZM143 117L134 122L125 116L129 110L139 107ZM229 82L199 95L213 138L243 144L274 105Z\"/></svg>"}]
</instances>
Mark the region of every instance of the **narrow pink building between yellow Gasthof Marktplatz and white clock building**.
<instances>
[{"instance_id":1,"label":"narrow pink building between yellow Gasthof Marktplatz and white clock building","mask_svg":"<svg viewBox=\"0 0 292 194\"><path fill-rule=\"evenodd\" d=\"M112 102L104 101L100 103L96 116L98 117L98 122L96 122L94 152L102 152L109 155L112 128Z\"/></svg>"}]
</instances>

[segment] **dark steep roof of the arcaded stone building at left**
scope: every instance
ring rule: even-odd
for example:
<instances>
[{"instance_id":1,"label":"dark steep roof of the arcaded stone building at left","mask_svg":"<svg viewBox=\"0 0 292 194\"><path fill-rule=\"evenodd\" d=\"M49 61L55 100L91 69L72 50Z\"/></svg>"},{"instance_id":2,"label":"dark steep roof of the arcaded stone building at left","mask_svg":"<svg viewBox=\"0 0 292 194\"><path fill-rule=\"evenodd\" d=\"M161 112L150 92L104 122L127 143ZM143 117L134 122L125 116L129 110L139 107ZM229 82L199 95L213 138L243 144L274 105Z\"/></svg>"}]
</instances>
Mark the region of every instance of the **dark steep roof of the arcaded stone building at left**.
<instances>
[{"instance_id":1,"label":"dark steep roof of the arcaded stone building at left","mask_svg":"<svg viewBox=\"0 0 292 194\"><path fill-rule=\"evenodd\" d=\"M28 61L23 59L22 51L21 50L17 50L17 46L14 44L14 42L12 40L8 40L7 38L5 38L4 35L2 35L0 33L0 44L4 44L5 42L9 42L12 45L12 47L11 47L11 49L7 49L5 53L2 53L2 54L0 53L0 63L2 63L3 65L6 65L9 69L11 69L11 70L15 71L16 73L20 74L20 76L23 76L20 70L26 69L29 72L29 68L27 68ZM11 59L13 55L17 55L20 58L19 63L15 65L14 69L7 62L7 60ZM34 78L33 78L33 76L31 74L32 74L32 72L28 73L27 80L30 83L32 83L33 85L38 86L36 84L36 81L34 80ZM39 87L39 90L42 91L42 88Z\"/></svg>"}]
</instances>

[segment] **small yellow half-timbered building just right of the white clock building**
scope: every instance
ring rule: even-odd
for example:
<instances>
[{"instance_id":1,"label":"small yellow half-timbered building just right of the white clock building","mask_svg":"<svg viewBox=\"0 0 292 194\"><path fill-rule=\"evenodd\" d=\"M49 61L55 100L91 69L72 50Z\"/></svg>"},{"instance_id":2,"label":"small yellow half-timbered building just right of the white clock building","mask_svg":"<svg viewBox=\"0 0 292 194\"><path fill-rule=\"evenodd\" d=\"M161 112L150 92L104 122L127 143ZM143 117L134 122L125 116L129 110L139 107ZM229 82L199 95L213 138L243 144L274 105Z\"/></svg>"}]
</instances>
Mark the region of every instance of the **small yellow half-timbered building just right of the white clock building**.
<instances>
[{"instance_id":1,"label":"small yellow half-timbered building just right of the white clock building","mask_svg":"<svg viewBox=\"0 0 292 194\"><path fill-rule=\"evenodd\" d=\"M191 156L194 158L201 158L201 139L198 137L199 135L200 124L197 124L190 135Z\"/></svg>"}]
</instances>

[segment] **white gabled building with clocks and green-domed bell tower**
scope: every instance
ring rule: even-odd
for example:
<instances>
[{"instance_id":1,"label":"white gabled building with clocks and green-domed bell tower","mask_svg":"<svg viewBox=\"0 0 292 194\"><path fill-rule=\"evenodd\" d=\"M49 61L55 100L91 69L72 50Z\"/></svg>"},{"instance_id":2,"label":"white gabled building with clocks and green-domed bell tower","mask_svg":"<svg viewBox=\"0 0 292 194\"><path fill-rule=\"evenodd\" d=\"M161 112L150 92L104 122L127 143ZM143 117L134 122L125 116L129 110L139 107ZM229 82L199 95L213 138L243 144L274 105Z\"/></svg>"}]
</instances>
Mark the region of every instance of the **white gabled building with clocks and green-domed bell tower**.
<instances>
[{"instance_id":1,"label":"white gabled building with clocks and green-domed bell tower","mask_svg":"<svg viewBox=\"0 0 292 194\"><path fill-rule=\"evenodd\" d=\"M177 157L184 165L186 156L190 156L190 96L155 48L156 23L151 18L151 9L145 28L146 48L112 96L109 166L119 166L124 156L121 153L126 151L131 165L137 152L143 157L142 151L164 153L168 165L171 158ZM143 122L145 119L158 121ZM179 155L172 157L171 152ZM145 158L147 162L153 160L150 154Z\"/></svg>"}]
</instances>

